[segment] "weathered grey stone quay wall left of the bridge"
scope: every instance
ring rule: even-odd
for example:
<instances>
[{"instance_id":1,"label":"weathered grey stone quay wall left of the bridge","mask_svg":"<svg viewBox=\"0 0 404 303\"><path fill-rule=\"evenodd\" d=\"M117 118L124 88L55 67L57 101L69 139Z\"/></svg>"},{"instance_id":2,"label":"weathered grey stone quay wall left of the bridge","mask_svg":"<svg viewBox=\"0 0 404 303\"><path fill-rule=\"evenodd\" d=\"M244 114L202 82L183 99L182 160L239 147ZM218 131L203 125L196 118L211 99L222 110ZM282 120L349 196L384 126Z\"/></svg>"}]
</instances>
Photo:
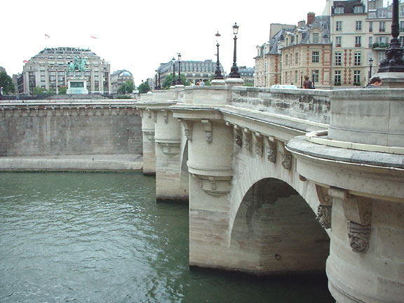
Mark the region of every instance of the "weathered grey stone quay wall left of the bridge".
<instances>
[{"instance_id":1,"label":"weathered grey stone quay wall left of the bridge","mask_svg":"<svg viewBox=\"0 0 404 303\"><path fill-rule=\"evenodd\" d=\"M129 104L0 104L0 129L0 156L142 154L142 120Z\"/></svg>"}]
</instances>

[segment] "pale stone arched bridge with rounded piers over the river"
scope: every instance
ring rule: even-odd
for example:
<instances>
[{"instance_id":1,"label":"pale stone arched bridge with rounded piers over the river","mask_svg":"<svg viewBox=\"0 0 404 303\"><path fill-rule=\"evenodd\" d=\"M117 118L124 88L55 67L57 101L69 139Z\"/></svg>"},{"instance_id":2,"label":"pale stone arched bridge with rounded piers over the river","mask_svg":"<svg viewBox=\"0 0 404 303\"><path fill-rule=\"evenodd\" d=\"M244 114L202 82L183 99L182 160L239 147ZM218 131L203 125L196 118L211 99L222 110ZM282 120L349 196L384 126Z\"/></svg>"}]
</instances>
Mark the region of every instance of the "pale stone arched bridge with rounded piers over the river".
<instances>
[{"instance_id":1,"label":"pale stone arched bridge with rounded piers over the river","mask_svg":"<svg viewBox=\"0 0 404 303\"><path fill-rule=\"evenodd\" d=\"M189 200L190 267L326 271L403 302L404 90L177 86L142 95L144 173Z\"/></svg>"}]
</instances>

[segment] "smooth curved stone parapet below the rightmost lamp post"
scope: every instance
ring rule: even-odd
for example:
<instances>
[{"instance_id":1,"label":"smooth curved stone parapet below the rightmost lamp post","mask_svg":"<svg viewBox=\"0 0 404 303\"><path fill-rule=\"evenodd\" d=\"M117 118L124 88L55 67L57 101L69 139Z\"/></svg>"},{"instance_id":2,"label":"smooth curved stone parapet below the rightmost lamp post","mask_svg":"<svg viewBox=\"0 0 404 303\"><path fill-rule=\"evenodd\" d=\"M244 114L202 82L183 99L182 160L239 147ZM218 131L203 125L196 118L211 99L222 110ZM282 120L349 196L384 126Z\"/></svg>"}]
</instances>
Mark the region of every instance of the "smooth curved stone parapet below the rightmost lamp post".
<instances>
[{"instance_id":1,"label":"smooth curved stone parapet below the rightmost lamp post","mask_svg":"<svg viewBox=\"0 0 404 303\"><path fill-rule=\"evenodd\" d=\"M335 90L330 93L331 140L404 147L404 89Z\"/></svg>"}]
</instances>

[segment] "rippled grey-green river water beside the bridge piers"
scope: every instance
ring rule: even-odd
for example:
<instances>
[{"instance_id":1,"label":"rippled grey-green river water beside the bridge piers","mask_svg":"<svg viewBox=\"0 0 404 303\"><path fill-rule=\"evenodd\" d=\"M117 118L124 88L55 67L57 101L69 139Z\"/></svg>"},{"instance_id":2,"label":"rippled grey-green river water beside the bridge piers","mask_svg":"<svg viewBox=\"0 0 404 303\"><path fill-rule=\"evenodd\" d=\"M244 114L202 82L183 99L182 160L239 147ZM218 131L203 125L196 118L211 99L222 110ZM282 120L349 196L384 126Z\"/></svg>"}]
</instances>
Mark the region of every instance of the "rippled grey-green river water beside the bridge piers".
<instances>
[{"instance_id":1,"label":"rippled grey-green river water beside the bridge piers","mask_svg":"<svg viewBox=\"0 0 404 303\"><path fill-rule=\"evenodd\" d=\"M335 302L325 276L190 271L188 232L154 177L0 173L0 302Z\"/></svg>"}]
</instances>

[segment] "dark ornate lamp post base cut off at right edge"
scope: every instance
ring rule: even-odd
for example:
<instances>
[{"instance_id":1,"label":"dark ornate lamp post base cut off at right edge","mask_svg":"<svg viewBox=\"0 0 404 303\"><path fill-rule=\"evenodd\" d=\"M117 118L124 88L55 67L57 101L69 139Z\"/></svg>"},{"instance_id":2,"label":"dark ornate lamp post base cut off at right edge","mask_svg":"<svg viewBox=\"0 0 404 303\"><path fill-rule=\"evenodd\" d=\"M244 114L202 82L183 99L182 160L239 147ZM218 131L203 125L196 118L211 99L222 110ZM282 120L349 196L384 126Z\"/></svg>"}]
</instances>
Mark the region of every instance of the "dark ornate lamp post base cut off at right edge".
<instances>
[{"instance_id":1,"label":"dark ornate lamp post base cut off at right edge","mask_svg":"<svg viewBox=\"0 0 404 303\"><path fill-rule=\"evenodd\" d=\"M386 49L386 58L380 62L379 73L382 72L404 72L404 50L400 46L398 35L400 34L400 24L398 20L398 0L393 0L393 20L391 22L390 46Z\"/></svg>"}]
</instances>

